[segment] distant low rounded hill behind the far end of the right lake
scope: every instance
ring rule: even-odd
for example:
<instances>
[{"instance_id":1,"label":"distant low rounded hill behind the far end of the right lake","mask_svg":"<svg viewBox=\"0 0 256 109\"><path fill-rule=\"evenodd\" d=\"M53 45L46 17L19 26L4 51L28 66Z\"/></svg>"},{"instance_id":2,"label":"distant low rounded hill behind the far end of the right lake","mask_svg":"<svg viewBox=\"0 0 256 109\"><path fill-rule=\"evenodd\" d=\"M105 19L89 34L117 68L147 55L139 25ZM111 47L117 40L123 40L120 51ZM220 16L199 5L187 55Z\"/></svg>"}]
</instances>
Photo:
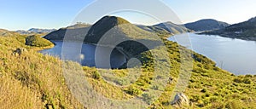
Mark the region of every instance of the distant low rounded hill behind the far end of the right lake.
<instances>
[{"instance_id":1,"label":"distant low rounded hill behind the far end of the right lake","mask_svg":"<svg viewBox=\"0 0 256 109\"><path fill-rule=\"evenodd\" d=\"M195 32L202 32L223 29L226 26L230 26L230 24L218 20L206 19L187 23L184 26Z\"/></svg>"}]
</instances>

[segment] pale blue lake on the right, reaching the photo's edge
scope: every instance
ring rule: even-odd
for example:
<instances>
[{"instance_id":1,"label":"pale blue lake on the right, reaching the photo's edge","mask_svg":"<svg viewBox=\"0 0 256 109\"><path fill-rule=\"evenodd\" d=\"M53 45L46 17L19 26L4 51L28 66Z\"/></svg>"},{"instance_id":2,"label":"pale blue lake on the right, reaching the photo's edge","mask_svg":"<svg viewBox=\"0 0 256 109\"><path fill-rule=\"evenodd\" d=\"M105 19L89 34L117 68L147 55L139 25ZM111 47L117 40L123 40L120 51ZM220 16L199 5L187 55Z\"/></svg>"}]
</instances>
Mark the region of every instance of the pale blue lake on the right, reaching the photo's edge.
<instances>
[{"instance_id":1,"label":"pale blue lake on the right, reaching the photo's edge","mask_svg":"<svg viewBox=\"0 0 256 109\"><path fill-rule=\"evenodd\" d=\"M214 60L217 66L236 75L256 74L256 42L214 35L195 33L180 34L169 40L183 43L189 36L191 47L196 53Z\"/></svg>"}]
</instances>

